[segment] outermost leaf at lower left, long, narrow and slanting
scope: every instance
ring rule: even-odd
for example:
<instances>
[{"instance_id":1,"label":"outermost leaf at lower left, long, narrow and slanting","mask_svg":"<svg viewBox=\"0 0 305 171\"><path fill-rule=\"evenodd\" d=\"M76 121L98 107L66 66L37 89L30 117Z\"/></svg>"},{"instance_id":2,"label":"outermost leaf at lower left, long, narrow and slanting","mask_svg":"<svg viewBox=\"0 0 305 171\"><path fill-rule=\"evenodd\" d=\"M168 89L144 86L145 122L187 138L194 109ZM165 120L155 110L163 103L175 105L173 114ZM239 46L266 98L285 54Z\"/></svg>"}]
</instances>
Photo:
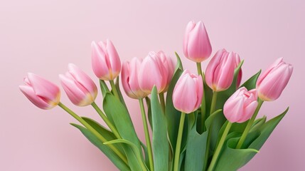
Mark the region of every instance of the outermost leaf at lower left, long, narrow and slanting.
<instances>
[{"instance_id":1,"label":"outermost leaf at lower left, long, narrow and slanting","mask_svg":"<svg viewBox=\"0 0 305 171\"><path fill-rule=\"evenodd\" d=\"M96 147L98 147L108 158L113 162L113 164L119 168L119 170L130 170L129 166L125 164L107 145L104 145L95 135L93 135L87 128L77 125L75 123L70 123L75 128L80 130L83 135Z\"/></svg>"}]
</instances>

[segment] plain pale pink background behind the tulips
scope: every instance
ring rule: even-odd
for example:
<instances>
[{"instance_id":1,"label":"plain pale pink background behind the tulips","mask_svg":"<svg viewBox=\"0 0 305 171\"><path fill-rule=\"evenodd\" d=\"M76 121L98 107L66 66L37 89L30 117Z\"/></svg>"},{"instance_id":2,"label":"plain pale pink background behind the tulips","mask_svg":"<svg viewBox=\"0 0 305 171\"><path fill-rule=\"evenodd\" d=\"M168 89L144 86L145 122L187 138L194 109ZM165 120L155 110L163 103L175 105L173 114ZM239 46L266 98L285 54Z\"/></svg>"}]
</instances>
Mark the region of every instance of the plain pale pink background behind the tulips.
<instances>
[{"instance_id":1,"label":"plain pale pink background behind the tulips","mask_svg":"<svg viewBox=\"0 0 305 171\"><path fill-rule=\"evenodd\" d=\"M116 170L60 108L40 110L18 90L27 72L59 83L58 74L75 63L90 68L92 40L110 38L122 61L149 51L177 51L183 58L186 24L203 20L213 53L236 51L245 59L244 78L264 70L276 58L294 65L282 96L265 103L260 115L273 118L288 105L289 113L259 154L241 170L305 170L304 162L304 1L6 1L0 5L1 123L0 170ZM203 67L208 61L203 63ZM97 79L95 79L97 83ZM75 108L100 120L92 108ZM101 102L101 96L97 103ZM144 140L137 100L129 110ZM302 104L303 103L303 104ZM303 105L303 106L301 106ZM302 124L303 123L303 124Z\"/></svg>"}]
</instances>

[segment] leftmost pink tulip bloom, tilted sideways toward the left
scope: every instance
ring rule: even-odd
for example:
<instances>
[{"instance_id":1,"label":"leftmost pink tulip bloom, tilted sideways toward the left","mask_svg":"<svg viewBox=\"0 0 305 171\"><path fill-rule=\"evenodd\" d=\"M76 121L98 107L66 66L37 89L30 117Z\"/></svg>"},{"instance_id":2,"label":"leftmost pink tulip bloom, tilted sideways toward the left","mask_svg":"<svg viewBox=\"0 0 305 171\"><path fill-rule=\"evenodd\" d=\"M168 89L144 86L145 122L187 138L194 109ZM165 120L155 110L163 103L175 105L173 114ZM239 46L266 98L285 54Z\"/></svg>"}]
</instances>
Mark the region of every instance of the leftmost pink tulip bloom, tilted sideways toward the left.
<instances>
[{"instance_id":1,"label":"leftmost pink tulip bloom, tilted sideways toward the left","mask_svg":"<svg viewBox=\"0 0 305 171\"><path fill-rule=\"evenodd\" d=\"M24 83L19 86L21 92L38 108L51 109L60 102L60 89L45 78L28 73Z\"/></svg>"}]
</instances>

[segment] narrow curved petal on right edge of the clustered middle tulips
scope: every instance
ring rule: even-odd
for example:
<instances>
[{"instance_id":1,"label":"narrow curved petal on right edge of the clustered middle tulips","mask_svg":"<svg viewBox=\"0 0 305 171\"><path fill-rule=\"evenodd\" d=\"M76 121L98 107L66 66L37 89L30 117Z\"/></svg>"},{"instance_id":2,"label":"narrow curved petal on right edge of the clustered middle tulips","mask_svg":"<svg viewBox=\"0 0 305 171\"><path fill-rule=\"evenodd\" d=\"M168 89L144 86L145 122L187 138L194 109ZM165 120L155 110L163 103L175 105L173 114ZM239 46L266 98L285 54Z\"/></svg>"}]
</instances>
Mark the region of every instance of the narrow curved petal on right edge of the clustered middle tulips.
<instances>
[{"instance_id":1,"label":"narrow curved petal on right edge of the clustered middle tulips","mask_svg":"<svg viewBox=\"0 0 305 171\"><path fill-rule=\"evenodd\" d=\"M164 91L163 91L163 92L166 92L169 84L171 83L171 78L173 78L173 72L175 71L175 64L173 63L172 58L170 56L166 56L166 54L163 51L159 51L158 55L161 58L164 68L166 68L166 70L167 70L166 87L164 88Z\"/></svg>"}]
</instances>

